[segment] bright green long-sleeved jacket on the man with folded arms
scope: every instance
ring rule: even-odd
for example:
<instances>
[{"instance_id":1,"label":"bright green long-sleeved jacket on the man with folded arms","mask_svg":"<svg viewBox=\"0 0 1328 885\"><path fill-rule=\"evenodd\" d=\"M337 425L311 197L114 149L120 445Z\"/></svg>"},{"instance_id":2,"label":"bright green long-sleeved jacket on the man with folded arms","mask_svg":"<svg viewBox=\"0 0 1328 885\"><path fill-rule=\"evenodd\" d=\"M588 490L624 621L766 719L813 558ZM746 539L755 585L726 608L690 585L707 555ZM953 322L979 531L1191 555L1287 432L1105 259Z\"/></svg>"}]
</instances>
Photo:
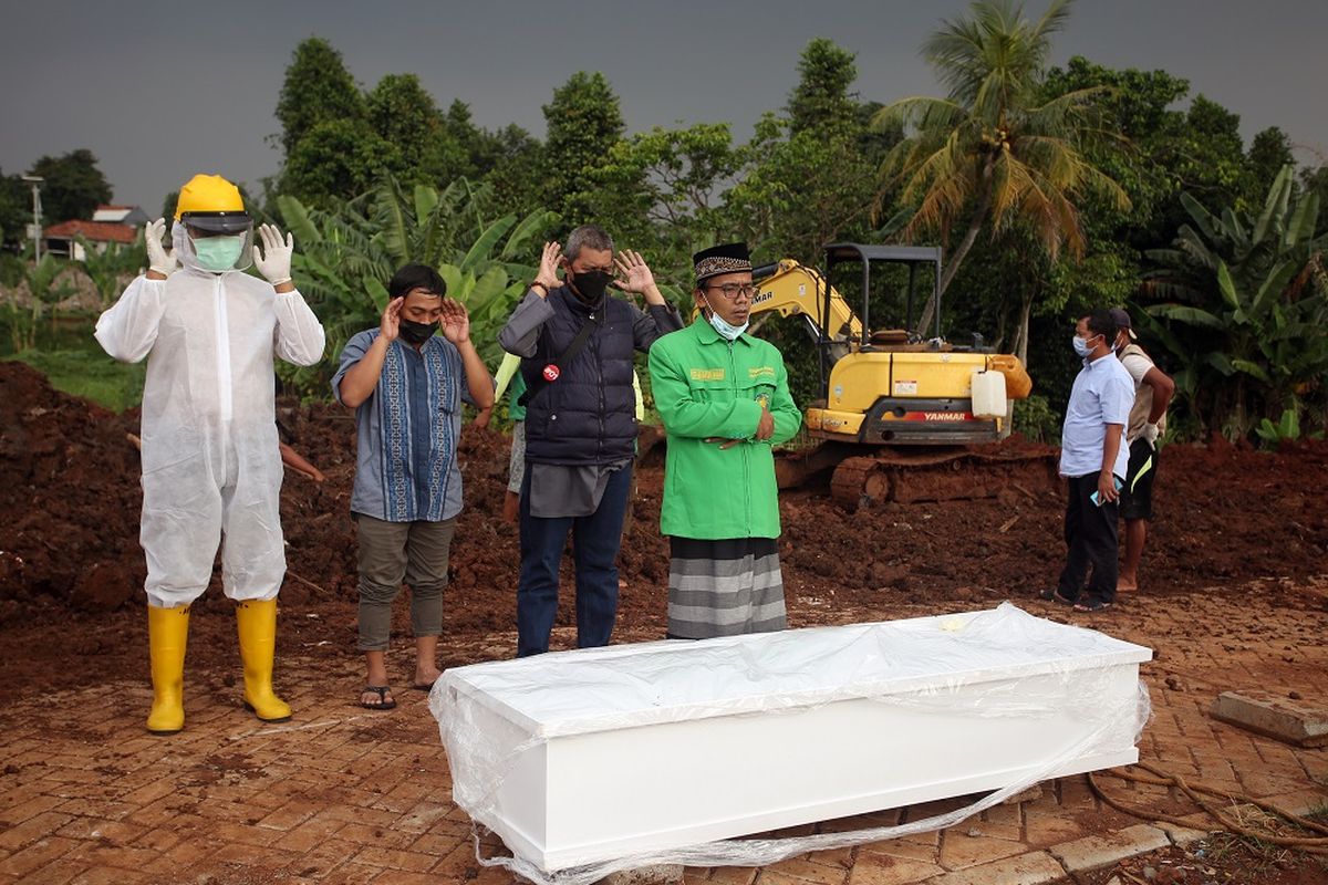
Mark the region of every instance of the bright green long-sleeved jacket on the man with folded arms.
<instances>
[{"instance_id":1,"label":"bright green long-sleeved jacket on the man with folded arms","mask_svg":"<svg viewBox=\"0 0 1328 885\"><path fill-rule=\"evenodd\" d=\"M780 350L748 334L725 341L704 318L651 348L651 391L668 433L660 532L676 537L778 537L773 446L798 433ZM762 403L774 437L756 441ZM742 439L732 448L708 437Z\"/></svg>"}]
</instances>

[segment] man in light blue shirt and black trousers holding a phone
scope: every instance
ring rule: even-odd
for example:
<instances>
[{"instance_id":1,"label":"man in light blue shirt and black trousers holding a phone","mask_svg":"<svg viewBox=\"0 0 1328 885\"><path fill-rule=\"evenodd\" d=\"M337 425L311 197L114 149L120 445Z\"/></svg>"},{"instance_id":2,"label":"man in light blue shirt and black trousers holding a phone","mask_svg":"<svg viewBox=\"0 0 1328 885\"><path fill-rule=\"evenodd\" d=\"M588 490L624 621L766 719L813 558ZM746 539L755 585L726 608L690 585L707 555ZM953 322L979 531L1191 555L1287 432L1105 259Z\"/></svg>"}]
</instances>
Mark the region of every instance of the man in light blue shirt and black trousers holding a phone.
<instances>
[{"instance_id":1,"label":"man in light blue shirt and black trousers holding a phone","mask_svg":"<svg viewBox=\"0 0 1328 885\"><path fill-rule=\"evenodd\" d=\"M1041 596L1077 612L1102 612L1116 601L1117 502L1130 455L1122 441L1134 406L1134 379L1116 358L1110 310L1081 317L1070 344L1084 368L1074 377L1061 427L1060 472L1068 484L1065 568L1056 589Z\"/></svg>"}]
</instances>

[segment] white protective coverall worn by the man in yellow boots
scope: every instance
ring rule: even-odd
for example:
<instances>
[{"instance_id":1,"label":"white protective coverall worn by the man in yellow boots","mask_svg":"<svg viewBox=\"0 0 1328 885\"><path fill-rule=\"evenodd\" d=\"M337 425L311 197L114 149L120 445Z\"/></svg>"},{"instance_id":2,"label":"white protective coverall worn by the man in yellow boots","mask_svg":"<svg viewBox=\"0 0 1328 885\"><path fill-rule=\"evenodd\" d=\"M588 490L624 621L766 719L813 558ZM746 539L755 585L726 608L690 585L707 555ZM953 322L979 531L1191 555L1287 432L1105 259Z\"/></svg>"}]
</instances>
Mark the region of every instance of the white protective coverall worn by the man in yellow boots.
<instances>
[{"instance_id":1,"label":"white protective coverall worn by the man in yellow boots","mask_svg":"<svg viewBox=\"0 0 1328 885\"><path fill-rule=\"evenodd\" d=\"M181 255L178 247L177 236ZM299 292L189 264L166 280L139 276L97 320L112 357L147 357L139 531L147 601L197 600L222 535L226 596L270 600L286 575L272 356L313 365L323 326Z\"/></svg>"}]
</instances>

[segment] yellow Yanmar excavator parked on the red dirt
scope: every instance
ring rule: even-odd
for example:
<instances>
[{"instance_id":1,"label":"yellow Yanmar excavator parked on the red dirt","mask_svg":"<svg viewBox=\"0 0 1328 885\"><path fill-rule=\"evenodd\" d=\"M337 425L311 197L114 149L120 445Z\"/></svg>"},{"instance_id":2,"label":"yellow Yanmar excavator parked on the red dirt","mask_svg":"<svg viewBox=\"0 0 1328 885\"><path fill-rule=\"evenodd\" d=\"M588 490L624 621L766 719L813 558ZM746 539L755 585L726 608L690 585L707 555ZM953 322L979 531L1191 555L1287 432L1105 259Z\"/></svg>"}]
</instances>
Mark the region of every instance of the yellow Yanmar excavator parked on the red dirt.
<instances>
[{"instance_id":1,"label":"yellow Yanmar excavator parked on the red dirt","mask_svg":"<svg viewBox=\"0 0 1328 885\"><path fill-rule=\"evenodd\" d=\"M823 273L791 259L754 268L753 321L766 312L802 317L825 390L806 410L807 433L819 444L781 452L781 488L834 468L834 499L857 510L883 500L984 498L1017 483L1013 474L1028 462L1036 474L1045 472L1045 454L995 444L1009 435L1013 401L1028 397L1033 382L1017 357L984 346L980 336L964 346L944 340L940 261L936 247L835 243L826 247ZM907 269L902 325L898 318L871 325L871 276L883 264ZM845 265L861 268L857 313L830 284ZM914 328L919 277L930 279L935 303L928 330ZM961 470L972 462L983 462L983 470Z\"/></svg>"}]
</instances>

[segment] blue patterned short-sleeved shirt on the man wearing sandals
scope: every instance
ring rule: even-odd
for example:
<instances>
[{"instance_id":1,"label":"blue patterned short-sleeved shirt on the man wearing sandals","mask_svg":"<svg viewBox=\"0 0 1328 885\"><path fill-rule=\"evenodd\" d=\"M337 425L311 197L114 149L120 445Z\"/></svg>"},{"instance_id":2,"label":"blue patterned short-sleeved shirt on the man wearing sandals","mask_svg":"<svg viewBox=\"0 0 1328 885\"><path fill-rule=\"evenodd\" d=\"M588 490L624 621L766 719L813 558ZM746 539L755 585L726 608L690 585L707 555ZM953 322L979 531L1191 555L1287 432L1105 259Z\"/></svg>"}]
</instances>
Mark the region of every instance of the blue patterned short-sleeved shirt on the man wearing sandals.
<instances>
[{"instance_id":1,"label":"blue patterned short-sleeved shirt on the man wearing sandals","mask_svg":"<svg viewBox=\"0 0 1328 885\"><path fill-rule=\"evenodd\" d=\"M351 338L332 377L364 358L377 329ZM461 512L461 403L469 402L461 353L442 336L416 350L400 338L388 348L373 394L355 410L356 470L351 510L389 523L440 521Z\"/></svg>"}]
</instances>

